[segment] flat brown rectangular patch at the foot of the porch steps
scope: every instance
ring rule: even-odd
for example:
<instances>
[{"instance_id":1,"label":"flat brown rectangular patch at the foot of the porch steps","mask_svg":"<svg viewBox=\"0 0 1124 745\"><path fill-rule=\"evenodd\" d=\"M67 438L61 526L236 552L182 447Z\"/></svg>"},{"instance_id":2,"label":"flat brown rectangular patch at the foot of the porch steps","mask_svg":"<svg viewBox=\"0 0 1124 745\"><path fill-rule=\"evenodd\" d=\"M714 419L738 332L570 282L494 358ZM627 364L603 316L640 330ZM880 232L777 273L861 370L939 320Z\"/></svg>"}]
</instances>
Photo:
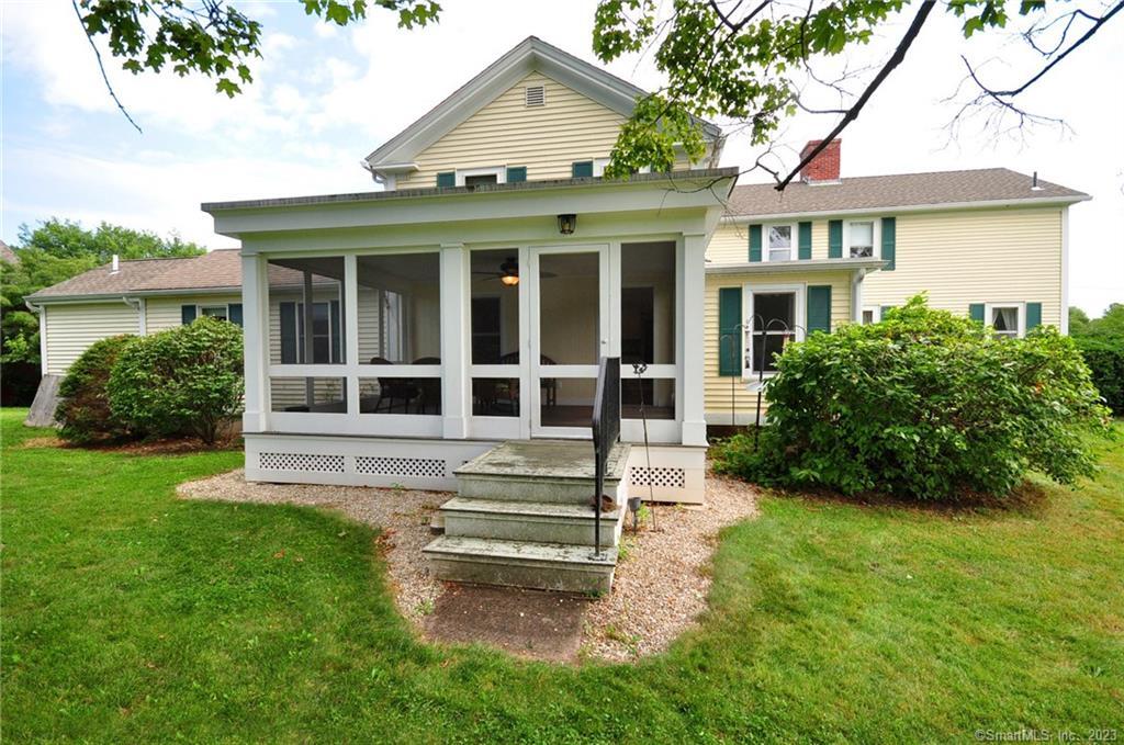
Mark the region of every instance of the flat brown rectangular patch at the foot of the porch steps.
<instances>
[{"instance_id":1,"label":"flat brown rectangular patch at the foot of the porch steps","mask_svg":"<svg viewBox=\"0 0 1124 745\"><path fill-rule=\"evenodd\" d=\"M434 642L480 643L522 657L573 662L588 605L587 598L561 592L450 582L423 628Z\"/></svg>"}]
</instances>

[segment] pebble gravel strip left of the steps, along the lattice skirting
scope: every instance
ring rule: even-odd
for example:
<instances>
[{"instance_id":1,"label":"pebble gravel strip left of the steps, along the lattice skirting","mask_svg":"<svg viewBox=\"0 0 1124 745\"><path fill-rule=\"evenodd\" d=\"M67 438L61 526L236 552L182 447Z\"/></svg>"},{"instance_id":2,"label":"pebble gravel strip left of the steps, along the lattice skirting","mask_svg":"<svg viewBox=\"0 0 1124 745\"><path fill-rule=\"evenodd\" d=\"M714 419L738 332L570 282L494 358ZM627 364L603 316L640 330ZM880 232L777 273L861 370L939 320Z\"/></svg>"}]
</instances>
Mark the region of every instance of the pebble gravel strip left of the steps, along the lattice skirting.
<instances>
[{"instance_id":1,"label":"pebble gravel strip left of the steps, along the lattice skirting","mask_svg":"<svg viewBox=\"0 0 1124 745\"><path fill-rule=\"evenodd\" d=\"M216 499L260 505L308 505L343 512L381 529L379 551L399 612L419 621L430 612L442 584L430 574L422 548L433 539L429 520L451 494L409 489L320 487L314 484L248 483L243 471L230 471L176 490L187 499Z\"/></svg>"}]
</instances>

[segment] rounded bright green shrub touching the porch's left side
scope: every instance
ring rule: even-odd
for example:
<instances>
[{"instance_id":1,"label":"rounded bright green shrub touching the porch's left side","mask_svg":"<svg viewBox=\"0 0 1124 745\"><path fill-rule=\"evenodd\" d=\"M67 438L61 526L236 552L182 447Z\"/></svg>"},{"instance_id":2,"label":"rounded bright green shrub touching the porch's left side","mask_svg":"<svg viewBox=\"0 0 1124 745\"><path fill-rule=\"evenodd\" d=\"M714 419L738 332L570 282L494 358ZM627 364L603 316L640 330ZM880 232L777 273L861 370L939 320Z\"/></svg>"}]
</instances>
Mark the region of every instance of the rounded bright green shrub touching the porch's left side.
<instances>
[{"instance_id":1,"label":"rounded bright green shrub touching the porch's left side","mask_svg":"<svg viewBox=\"0 0 1124 745\"><path fill-rule=\"evenodd\" d=\"M114 365L115 416L158 435L212 444L242 406L242 329L215 318L137 339Z\"/></svg>"}]
</instances>

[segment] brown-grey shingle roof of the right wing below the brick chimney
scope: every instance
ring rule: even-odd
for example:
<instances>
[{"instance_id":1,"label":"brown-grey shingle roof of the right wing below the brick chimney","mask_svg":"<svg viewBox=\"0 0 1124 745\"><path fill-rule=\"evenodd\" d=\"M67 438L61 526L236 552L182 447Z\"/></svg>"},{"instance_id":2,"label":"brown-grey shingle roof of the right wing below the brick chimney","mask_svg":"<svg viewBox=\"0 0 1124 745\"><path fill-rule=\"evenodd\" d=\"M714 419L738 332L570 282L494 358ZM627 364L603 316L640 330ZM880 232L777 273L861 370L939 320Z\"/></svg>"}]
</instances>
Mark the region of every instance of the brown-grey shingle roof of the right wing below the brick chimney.
<instances>
[{"instance_id":1,"label":"brown-grey shingle roof of the right wing below the brick chimney","mask_svg":"<svg viewBox=\"0 0 1124 745\"><path fill-rule=\"evenodd\" d=\"M834 212L858 209L894 209L927 205L1057 199L1078 201L1088 194L1008 169L901 173L859 176L839 182L789 184L777 191L771 183L734 187L729 215L769 216Z\"/></svg>"}]
</instances>

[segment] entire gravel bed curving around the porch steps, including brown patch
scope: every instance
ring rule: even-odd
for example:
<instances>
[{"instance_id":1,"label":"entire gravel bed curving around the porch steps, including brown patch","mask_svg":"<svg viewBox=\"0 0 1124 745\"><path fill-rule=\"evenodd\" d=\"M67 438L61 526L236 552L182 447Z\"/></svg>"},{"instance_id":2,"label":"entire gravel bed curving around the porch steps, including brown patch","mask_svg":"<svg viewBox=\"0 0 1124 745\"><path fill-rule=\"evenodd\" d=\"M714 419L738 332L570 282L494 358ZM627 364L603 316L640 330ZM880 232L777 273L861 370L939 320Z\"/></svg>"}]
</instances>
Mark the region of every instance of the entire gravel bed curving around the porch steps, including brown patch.
<instances>
[{"instance_id":1,"label":"entire gravel bed curving around the porch steps, including brown patch","mask_svg":"<svg viewBox=\"0 0 1124 745\"><path fill-rule=\"evenodd\" d=\"M662 652L695 625L706 609L718 532L756 515L753 487L708 475L706 489L705 507L658 507L659 529L626 532L613 592L595 600L434 579L422 548L433 539L429 521L447 492L247 483L238 470L181 484L179 494L309 505L381 528L395 602L430 639L482 642L551 661L627 661Z\"/></svg>"}]
</instances>

